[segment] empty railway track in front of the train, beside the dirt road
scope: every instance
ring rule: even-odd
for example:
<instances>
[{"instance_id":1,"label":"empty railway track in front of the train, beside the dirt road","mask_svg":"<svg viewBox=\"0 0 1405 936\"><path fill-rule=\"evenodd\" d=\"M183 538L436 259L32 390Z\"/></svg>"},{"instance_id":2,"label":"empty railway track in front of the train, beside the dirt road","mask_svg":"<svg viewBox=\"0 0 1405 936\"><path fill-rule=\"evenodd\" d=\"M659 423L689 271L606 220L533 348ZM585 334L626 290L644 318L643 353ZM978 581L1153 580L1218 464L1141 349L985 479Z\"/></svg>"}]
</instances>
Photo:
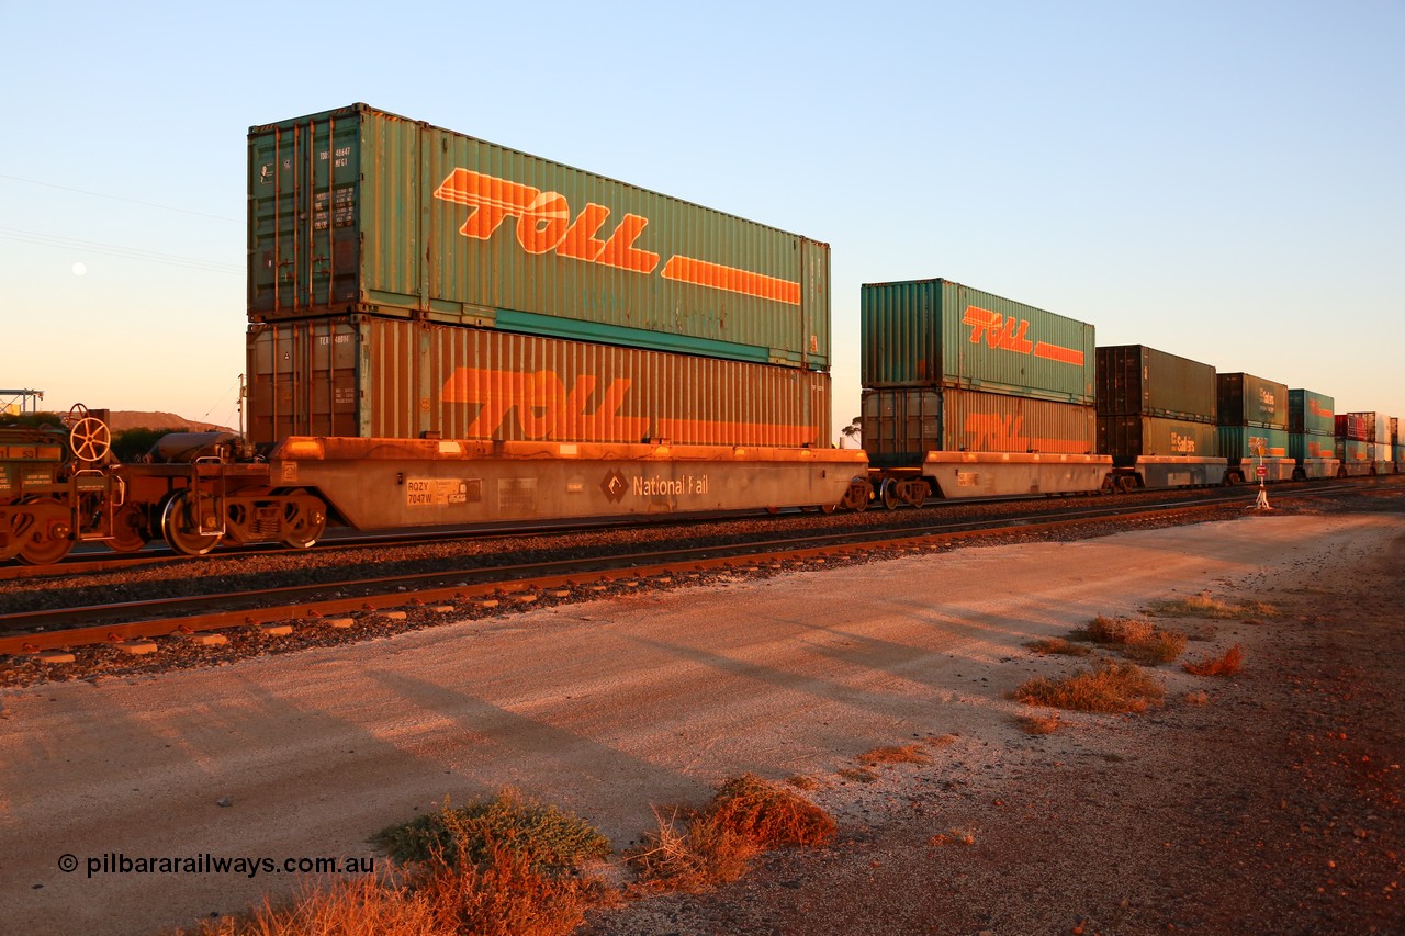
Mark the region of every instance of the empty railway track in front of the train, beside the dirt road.
<instances>
[{"instance_id":1,"label":"empty railway track in front of the train, beside the dirt road","mask_svg":"<svg viewBox=\"0 0 1405 936\"><path fill-rule=\"evenodd\" d=\"M1349 489L1328 485L1283 490L1293 496L1328 496ZM1166 514L1203 517L1246 506L1245 489L1193 492L1196 496L1080 499L1057 506L1026 505L1017 513L950 517L913 510L888 514L896 526L877 528L771 530L745 541L705 545L649 544L610 554L596 552L540 561L458 565L431 571L354 575L275 587L240 587L139 600L66 603L0 614L0 655L17 656L91 644L124 644L157 637L195 639L228 628L326 627L388 611L399 617L462 613L510 602L575 600L641 583L736 569L804 566L856 552L902 550L971 535L1050 531L1086 524L1145 521ZM288 554L282 554L288 555ZM436 610L437 609L437 610Z\"/></svg>"}]
</instances>

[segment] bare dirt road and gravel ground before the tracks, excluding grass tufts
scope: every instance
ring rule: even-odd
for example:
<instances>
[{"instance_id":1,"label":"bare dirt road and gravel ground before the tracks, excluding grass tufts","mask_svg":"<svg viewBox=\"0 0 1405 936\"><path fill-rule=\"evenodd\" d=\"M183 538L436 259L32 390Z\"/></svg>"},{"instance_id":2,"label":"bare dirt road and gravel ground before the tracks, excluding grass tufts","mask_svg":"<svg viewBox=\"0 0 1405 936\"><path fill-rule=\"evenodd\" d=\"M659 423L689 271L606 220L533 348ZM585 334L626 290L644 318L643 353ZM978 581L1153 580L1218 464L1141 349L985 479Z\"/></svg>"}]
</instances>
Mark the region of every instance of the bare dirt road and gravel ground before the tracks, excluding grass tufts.
<instances>
[{"instance_id":1,"label":"bare dirt road and gravel ground before the tracks, excluding grass tufts","mask_svg":"<svg viewBox=\"0 0 1405 936\"><path fill-rule=\"evenodd\" d=\"M1086 932L1249 932L1215 925L1250 908L1325 926L1300 932L1364 932L1333 928L1387 919L1398 901L1385 888L1401 880L1398 859L1383 870L1401 845L1405 649L1405 526L1399 502L1387 506L915 555L8 690L4 928L152 933L237 911L291 887L288 859L368 859L365 838L385 825L504 784L622 847L649 828L651 804L700 802L753 770L815 777L843 842L769 859L717 895L651 901L601 932L1006 935L1080 919ZM1006 694L1075 665L1026 641L1203 590L1286 609L1191 644L1242 642L1242 677L1162 668L1165 710L1020 732ZM1207 704L1182 701L1200 690ZM877 745L939 735L955 741L926 767L880 783L839 773ZM972 843L929 845L953 828ZM1342 870L1269 862L1322 842ZM188 871L121 870L202 856ZM259 873L209 871L237 857L260 859ZM1353 916L1357 904L1375 909Z\"/></svg>"}]
</instances>

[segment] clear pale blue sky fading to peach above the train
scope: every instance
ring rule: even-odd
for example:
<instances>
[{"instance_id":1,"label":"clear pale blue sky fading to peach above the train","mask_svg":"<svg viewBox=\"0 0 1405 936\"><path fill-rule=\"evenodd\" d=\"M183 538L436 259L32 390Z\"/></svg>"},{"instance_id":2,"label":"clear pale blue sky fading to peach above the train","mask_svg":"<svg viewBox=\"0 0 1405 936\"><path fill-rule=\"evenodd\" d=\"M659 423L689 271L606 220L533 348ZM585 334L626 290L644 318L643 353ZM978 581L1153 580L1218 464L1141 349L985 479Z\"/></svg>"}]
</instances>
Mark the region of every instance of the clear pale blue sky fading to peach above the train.
<instances>
[{"instance_id":1,"label":"clear pale blue sky fading to peach above the train","mask_svg":"<svg viewBox=\"0 0 1405 936\"><path fill-rule=\"evenodd\" d=\"M0 386L233 424L250 125L354 101L1405 416L1405 3L0 0ZM80 274L81 271L81 274Z\"/></svg>"}]
</instances>

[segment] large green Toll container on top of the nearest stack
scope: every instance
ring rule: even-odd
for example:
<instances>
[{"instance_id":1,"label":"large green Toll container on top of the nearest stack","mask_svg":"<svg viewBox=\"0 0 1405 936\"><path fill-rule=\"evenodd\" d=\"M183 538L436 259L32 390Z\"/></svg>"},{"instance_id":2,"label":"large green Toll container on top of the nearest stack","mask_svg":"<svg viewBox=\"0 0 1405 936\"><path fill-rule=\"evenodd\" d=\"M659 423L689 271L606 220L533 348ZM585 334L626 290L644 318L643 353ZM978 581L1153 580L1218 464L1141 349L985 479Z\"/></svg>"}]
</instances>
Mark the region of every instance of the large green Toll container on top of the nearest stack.
<instances>
[{"instance_id":1,"label":"large green Toll container on top of the nearest stack","mask_svg":"<svg viewBox=\"0 0 1405 936\"><path fill-rule=\"evenodd\" d=\"M249 131L249 318L829 368L829 246L365 104Z\"/></svg>"}]
</instances>

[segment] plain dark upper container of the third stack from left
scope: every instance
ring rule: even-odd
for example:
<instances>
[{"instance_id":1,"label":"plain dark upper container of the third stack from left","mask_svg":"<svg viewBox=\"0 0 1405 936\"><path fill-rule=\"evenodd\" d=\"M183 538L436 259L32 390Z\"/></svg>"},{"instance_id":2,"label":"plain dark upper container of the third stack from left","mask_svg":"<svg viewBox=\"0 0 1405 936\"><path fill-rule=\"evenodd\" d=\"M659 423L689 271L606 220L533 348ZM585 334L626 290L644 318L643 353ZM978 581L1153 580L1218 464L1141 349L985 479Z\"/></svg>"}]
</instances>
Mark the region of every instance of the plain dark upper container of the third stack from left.
<instances>
[{"instance_id":1,"label":"plain dark upper container of the third stack from left","mask_svg":"<svg viewBox=\"0 0 1405 936\"><path fill-rule=\"evenodd\" d=\"M1215 422L1215 368L1145 344L1097 349L1099 416Z\"/></svg>"}]
</instances>

